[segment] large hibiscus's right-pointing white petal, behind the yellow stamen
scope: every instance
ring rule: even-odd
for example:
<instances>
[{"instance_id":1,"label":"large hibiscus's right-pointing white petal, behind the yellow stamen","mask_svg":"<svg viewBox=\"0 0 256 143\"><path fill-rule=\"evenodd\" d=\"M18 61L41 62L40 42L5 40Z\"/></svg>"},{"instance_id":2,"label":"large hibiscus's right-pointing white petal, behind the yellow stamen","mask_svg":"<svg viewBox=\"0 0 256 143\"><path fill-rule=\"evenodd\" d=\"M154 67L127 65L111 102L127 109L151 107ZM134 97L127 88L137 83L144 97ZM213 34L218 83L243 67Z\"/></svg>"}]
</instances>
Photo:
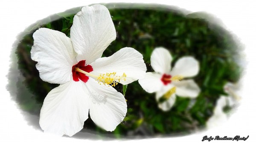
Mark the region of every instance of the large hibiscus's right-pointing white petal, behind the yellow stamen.
<instances>
[{"instance_id":1,"label":"large hibiscus's right-pointing white petal, behind the yellow stamen","mask_svg":"<svg viewBox=\"0 0 256 143\"><path fill-rule=\"evenodd\" d=\"M143 56L134 48L122 48L112 56L97 59L90 64L95 75L116 72L116 76L127 75L126 81L121 80L121 84L129 84L138 79L145 78L146 65Z\"/></svg>"}]
</instances>

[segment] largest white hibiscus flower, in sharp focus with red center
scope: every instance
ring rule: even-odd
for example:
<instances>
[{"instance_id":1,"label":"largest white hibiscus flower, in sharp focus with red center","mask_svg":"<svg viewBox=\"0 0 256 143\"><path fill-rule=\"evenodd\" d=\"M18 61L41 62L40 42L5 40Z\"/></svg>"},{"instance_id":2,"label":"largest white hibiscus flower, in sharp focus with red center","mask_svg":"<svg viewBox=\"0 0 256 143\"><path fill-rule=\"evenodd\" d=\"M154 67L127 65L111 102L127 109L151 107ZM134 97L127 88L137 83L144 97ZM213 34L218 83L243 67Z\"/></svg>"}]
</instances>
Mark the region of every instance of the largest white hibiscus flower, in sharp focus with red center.
<instances>
[{"instance_id":1,"label":"largest white hibiscus flower, in sharp focus with red center","mask_svg":"<svg viewBox=\"0 0 256 143\"><path fill-rule=\"evenodd\" d=\"M111 86L144 78L146 67L133 48L101 58L116 39L108 9L83 7L73 19L70 38L47 28L35 31L33 38L31 58L38 62L41 79L60 84L44 99L39 121L44 132L72 136L83 128L89 112L96 125L113 131L124 119L127 105Z\"/></svg>"}]
</instances>

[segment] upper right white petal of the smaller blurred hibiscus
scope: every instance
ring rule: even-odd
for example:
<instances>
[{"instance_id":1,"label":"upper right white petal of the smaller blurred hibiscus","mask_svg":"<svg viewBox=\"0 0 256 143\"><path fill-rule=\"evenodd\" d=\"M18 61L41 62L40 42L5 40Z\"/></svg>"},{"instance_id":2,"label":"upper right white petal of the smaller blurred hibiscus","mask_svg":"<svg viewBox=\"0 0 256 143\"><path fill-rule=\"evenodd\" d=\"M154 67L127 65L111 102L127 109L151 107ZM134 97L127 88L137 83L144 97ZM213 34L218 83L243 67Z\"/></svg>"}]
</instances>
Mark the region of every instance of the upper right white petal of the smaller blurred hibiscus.
<instances>
[{"instance_id":1,"label":"upper right white petal of the smaller blurred hibiscus","mask_svg":"<svg viewBox=\"0 0 256 143\"><path fill-rule=\"evenodd\" d=\"M175 66L172 68L171 75L192 77L197 75L198 72L199 72L199 62L191 56L185 56L183 58L180 58L175 63Z\"/></svg>"}]
</instances>

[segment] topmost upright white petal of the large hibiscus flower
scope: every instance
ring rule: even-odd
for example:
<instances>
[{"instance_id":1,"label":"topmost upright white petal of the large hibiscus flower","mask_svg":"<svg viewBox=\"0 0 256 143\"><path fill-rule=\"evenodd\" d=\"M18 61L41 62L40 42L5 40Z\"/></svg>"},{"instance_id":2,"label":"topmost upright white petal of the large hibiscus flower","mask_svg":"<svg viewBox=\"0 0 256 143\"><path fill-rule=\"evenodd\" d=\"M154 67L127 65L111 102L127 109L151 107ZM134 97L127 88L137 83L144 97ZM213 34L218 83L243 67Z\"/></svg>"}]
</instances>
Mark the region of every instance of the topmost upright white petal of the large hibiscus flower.
<instances>
[{"instance_id":1,"label":"topmost upright white petal of the large hibiscus flower","mask_svg":"<svg viewBox=\"0 0 256 143\"><path fill-rule=\"evenodd\" d=\"M70 29L77 61L94 62L116 39L116 30L108 9L102 5L85 6L77 13Z\"/></svg>"}]
</instances>

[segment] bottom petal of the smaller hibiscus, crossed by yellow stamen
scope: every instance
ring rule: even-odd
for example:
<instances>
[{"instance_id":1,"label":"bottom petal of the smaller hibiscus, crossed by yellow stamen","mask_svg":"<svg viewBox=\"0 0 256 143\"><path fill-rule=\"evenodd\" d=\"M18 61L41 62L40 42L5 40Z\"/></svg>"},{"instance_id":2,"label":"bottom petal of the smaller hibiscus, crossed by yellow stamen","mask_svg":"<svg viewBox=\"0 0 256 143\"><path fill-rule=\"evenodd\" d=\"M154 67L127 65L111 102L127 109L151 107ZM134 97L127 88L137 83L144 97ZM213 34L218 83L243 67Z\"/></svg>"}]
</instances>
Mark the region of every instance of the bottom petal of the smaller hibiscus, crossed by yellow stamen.
<instances>
[{"instance_id":1,"label":"bottom petal of the smaller hibiscus, crossed by yellow stamen","mask_svg":"<svg viewBox=\"0 0 256 143\"><path fill-rule=\"evenodd\" d=\"M174 87L173 84L168 84L164 87L162 87L162 89L160 91L158 91L156 93L156 99L157 101L159 100L159 98L161 98L167 91L169 91L170 89L172 89L172 87ZM158 107L160 109L162 109L163 111L169 111L172 106L174 105L175 103L175 100L176 100L176 95L175 93L171 95L171 97L166 100L166 101L163 101L162 103L158 103Z\"/></svg>"}]
</instances>

